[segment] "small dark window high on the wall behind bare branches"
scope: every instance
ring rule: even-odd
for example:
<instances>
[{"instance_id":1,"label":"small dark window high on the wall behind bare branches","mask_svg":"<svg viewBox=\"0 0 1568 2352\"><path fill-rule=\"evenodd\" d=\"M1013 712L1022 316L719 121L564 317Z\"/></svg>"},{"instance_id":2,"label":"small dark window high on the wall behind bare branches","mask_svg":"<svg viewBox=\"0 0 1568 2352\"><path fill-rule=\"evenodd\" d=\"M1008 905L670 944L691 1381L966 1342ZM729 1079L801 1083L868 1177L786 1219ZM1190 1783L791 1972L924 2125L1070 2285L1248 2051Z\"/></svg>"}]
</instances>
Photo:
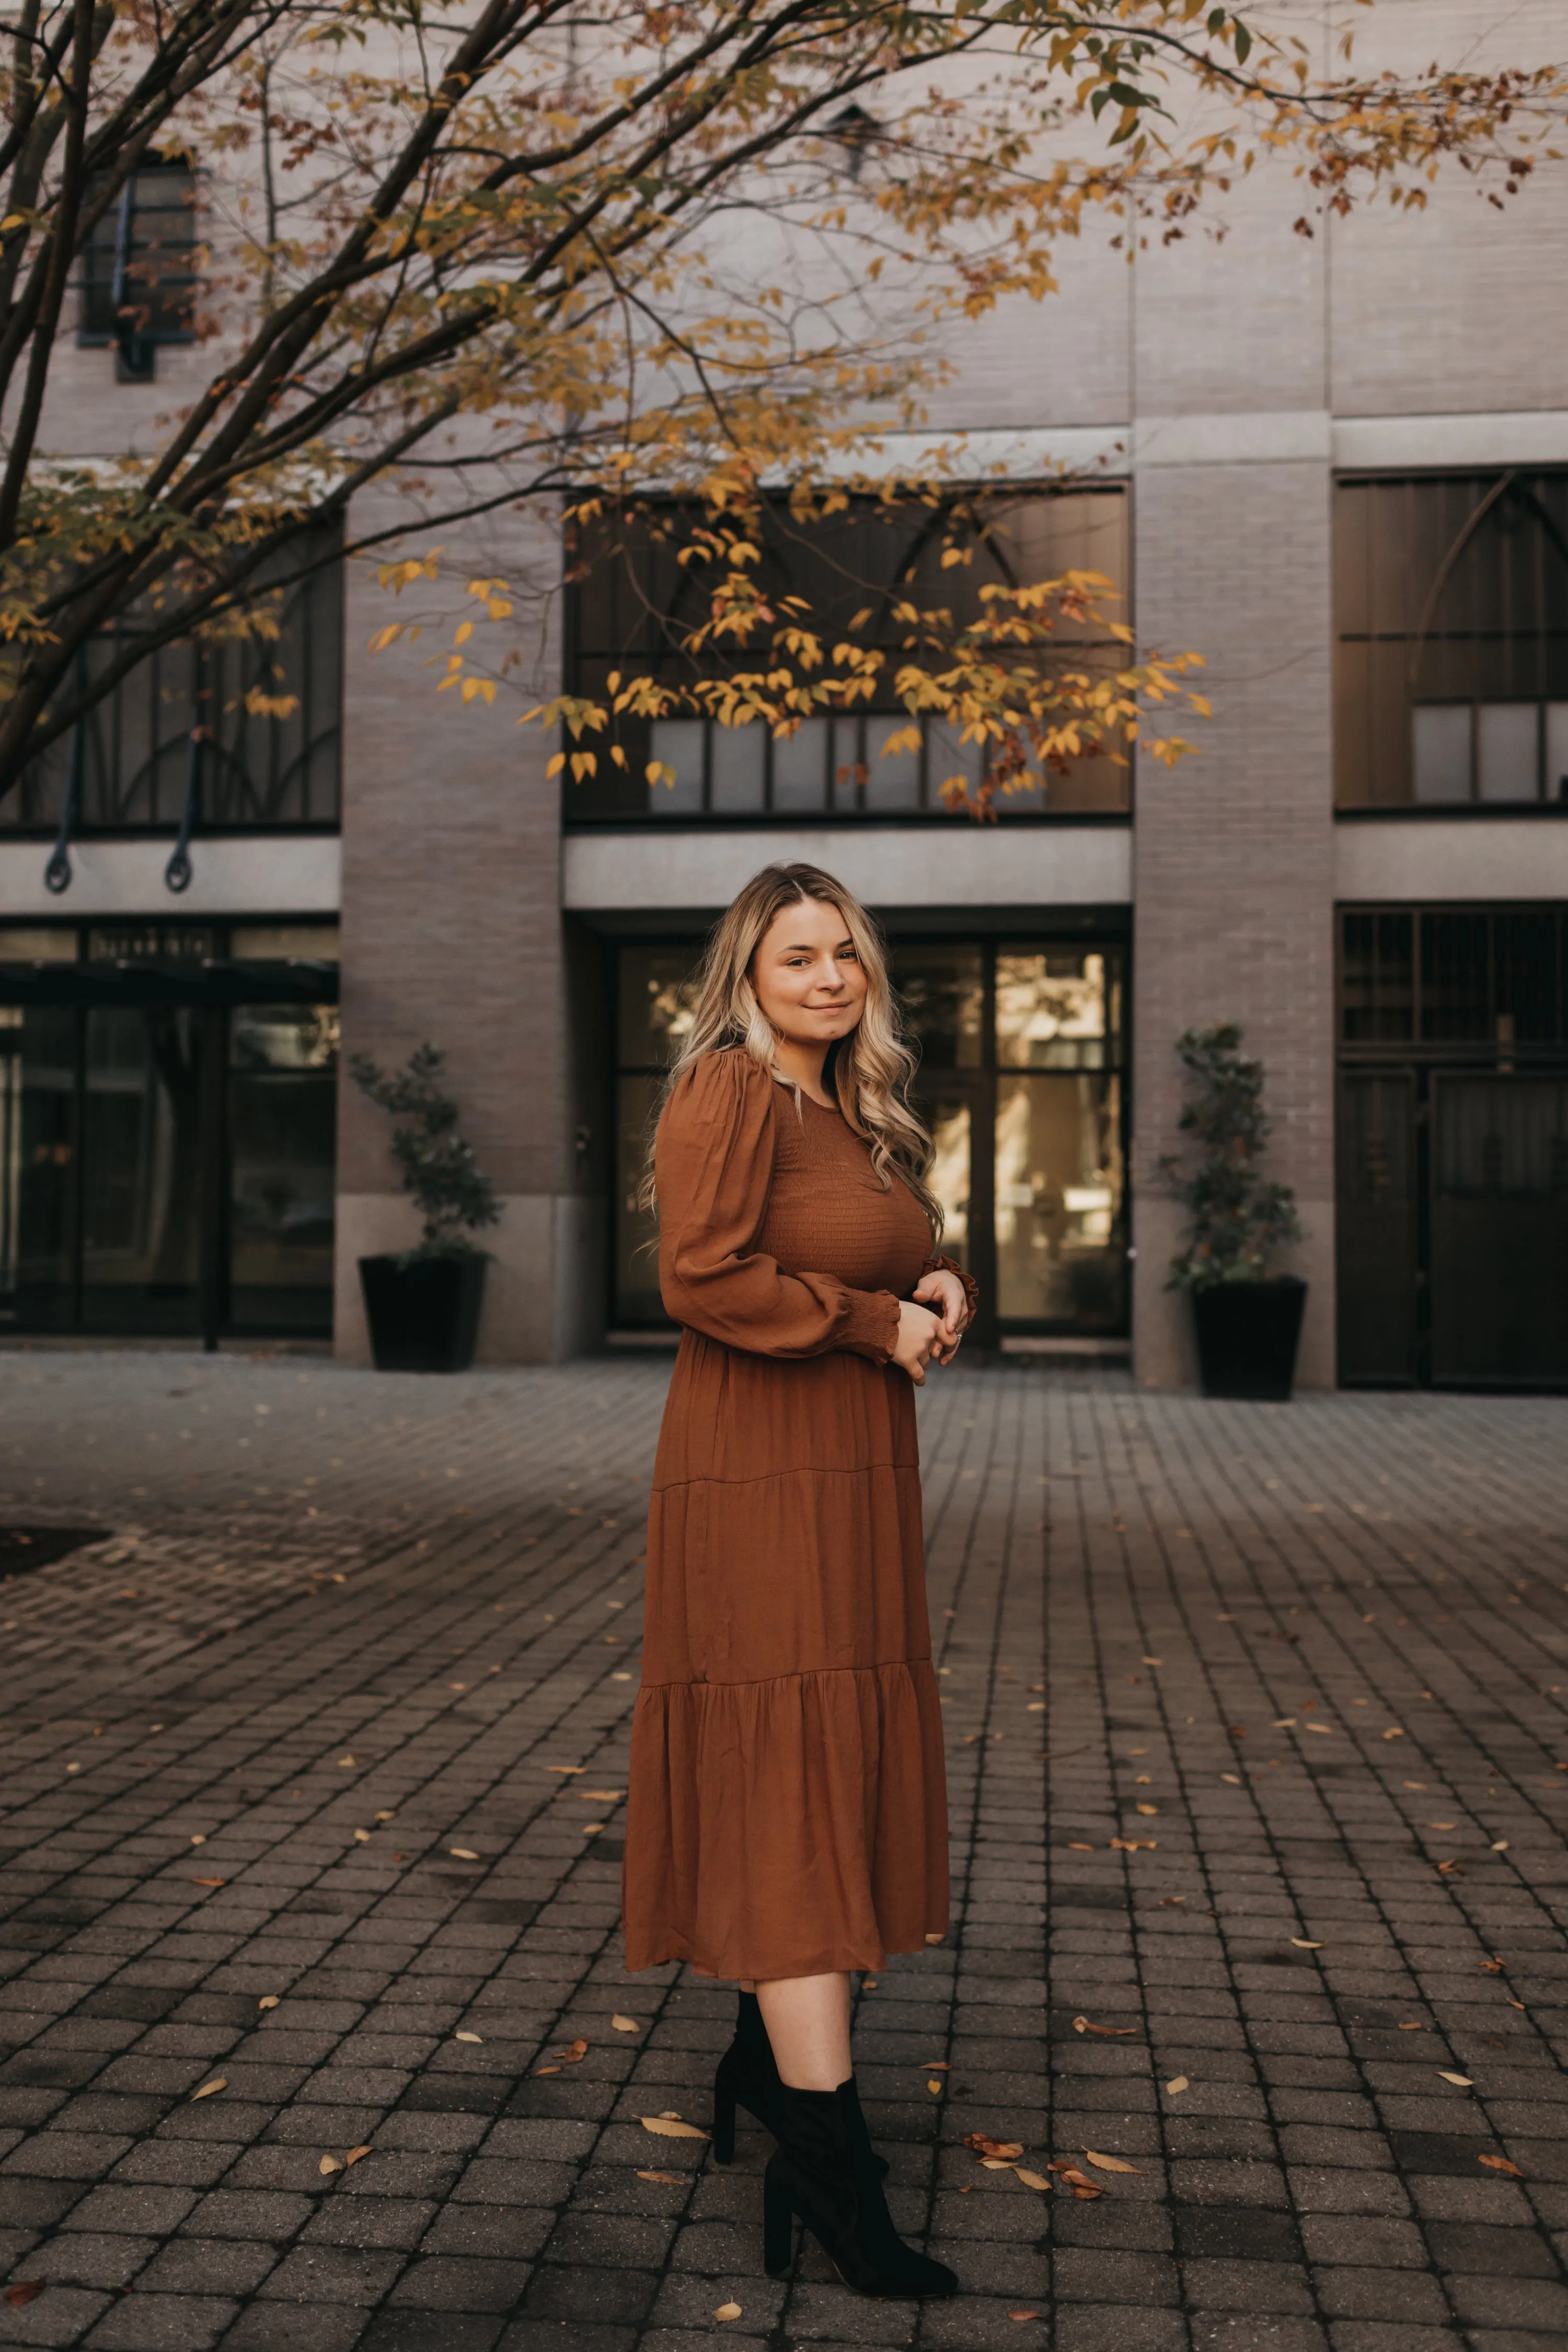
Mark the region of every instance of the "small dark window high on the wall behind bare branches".
<instances>
[{"instance_id":1,"label":"small dark window high on the wall behind bare branches","mask_svg":"<svg viewBox=\"0 0 1568 2352\"><path fill-rule=\"evenodd\" d=\"M82 247L78 341L115 343L120 374L148 379L160 343L195 334L195 172L146 162L132 172Z\"/></svg>"}]
</instances>

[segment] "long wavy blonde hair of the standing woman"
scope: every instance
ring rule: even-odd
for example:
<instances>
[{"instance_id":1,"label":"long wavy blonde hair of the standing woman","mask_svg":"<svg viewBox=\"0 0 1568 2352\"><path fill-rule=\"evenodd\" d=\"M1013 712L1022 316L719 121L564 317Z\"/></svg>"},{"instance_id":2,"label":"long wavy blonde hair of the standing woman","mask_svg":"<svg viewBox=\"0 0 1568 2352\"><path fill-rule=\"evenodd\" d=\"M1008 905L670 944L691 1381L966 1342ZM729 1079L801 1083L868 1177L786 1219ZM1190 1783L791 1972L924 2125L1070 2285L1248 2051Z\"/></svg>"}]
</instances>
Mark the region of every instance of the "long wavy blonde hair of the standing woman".
<instances>
[{"instance_id":1,"label":"long wavy blonde hair of the standing woman","mask_svg":"<svg viewBox=\"0 0 1568 2352\"><path fill-rule=\"evenodd\" d=\"M884 1188L893 1183L893 1176L903 1178L931 1218L933 1240L940 1240L943 1204L926 1183L931 1136L907 1103L917 1056L898 1018L882 936L860 901L820 866L764 866L719 920L703 955L691 1030L658 1108L663 1112L677 1080L693 1061L701 1061L703 1054L722 1054L726 1047L745 1047L771 1077L790 1084L776 1061L778 1035L752 990L752 960L778 915L811 898L837 908L865 971L865 1011L849 1037L830 1049L827 1061L839 1110L853 1131L870 1143L872 1167ZM799 1108L799 1087L792 1091ZM654 1207L654 1138L656 1127L649 1134L642 1176L639 1200L644 1209Z\"/></svg>"}]
</instances>

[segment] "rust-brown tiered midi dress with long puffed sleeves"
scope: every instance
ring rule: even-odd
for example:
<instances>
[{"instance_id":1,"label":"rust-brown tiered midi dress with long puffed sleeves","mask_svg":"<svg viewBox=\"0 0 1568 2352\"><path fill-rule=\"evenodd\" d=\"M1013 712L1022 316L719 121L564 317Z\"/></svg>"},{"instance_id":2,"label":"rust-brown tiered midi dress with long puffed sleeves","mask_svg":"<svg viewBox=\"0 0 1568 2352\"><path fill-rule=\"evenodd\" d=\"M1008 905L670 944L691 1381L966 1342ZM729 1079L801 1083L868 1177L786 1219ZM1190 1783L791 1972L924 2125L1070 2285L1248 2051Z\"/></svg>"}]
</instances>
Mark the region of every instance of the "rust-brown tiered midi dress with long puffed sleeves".
<instances>
[{"instance_id":1,"label":"rust-brown tiered midi dress with long puffed sleeves","mask_svg":"<svg viewBox=\"0 0 1568 2352\"><path fill-rule=\"evenodd\" d=\"M926 1211L743 1049L675 1087L661 1289L684 1324L649 1510L630 1969L879 1969L947 1926L914 1388ZM957 1268L954 1268L957 1272Z\"/></svg>"}]
</instances>

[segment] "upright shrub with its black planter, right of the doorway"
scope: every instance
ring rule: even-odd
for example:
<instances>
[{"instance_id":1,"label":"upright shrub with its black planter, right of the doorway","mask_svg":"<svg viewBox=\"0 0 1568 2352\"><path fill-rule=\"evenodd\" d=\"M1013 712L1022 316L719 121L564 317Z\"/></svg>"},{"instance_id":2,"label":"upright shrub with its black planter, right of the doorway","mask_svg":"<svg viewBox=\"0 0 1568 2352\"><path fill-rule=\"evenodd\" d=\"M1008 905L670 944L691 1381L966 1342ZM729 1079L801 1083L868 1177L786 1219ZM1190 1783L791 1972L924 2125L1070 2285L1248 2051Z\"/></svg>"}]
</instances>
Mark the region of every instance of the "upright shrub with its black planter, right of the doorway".
<instances>
[{"instance_id":1,"label":"upright shrub with its black planter, right of the doorway","mask_svg":"<svg viewBox=\"0 0 1568 2352\"><path fill-rule=\"evenodd\" d=\"M1241 1054L1234 1021L1182 1030L1175 1051L1187 1070L1178 1127L1197 1143L1197 1162L1190 1171L1173 1155L1159 1162L1192 1214L1168 1289L1192 1291L1204 1395L1284 1404L1295 1381L1307 1284L1269 1272L1269 1254L1300 1240L1302 1228L1291 1188L1258 1169L1269 1136L1262 1063Z\"/></svg>"}]
</instances>

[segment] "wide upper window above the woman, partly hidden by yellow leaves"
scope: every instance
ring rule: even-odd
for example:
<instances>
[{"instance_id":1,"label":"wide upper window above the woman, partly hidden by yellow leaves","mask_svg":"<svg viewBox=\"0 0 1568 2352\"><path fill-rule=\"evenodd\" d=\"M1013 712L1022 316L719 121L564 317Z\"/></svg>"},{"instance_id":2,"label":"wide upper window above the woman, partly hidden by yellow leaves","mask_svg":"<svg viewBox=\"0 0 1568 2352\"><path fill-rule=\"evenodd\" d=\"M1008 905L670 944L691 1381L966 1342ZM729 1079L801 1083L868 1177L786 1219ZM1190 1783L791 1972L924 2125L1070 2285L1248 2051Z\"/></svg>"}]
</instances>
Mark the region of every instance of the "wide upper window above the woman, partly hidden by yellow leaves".
<instances>
[{"instance_id":1,"label":"wide upper window above the woman, partly hidden by yellow leaves","mask_svg":"<svg viewBox=\"0 0 1568 2352\"><path fill-rule=\"evenodd\" d=\"M1117 593L1128 579L1128 506L1119 485L1093 492L1039 492L1011 496L987 517L990 536L964 572L943 572L945 515L912 503L891 517L870 503L811 532L785 513L771 513L764 532L762 581L776 595L806 597L827 642L844 635L867 600L875 609L856 642L903 642L893 623L896 600L954 616L976 609L987 583L1058 579L1063 572L1103 572ZM574 694L604 694L611 670L649 670L658 677L691 675L679 652L682 630L698 616L703 583L696 567L679 567L675 553L651 539L616 550L583 543L578 579L569 595L567 675ZM867 583L872 583L867 595ZM1110 619L1126 619L1110 604ZM1126 652L1093 626L1060 628L1063 654L1079 670L1119 668ZM736 666L755 663L755 649L736 654ZM823 816L910 816L940 809L947 776L980 781L978 746L929 722L917 748L886 753L907 731L907 713L884 696L882 706L851 717L804 720L778 743L766 727L717 727L698 717L656 724L621 724L625 769L616 769L597 739L599 774L564 786L564 816L581 821L745 821ZM675 783L646 783L646 764L672 769ZM1044 809L1126 809L1131 769L1110 757L1084 760L1070 776L1051 779L1048 795L1020 793L999 800L1001 816L1039 816Z\"/></svg>"}]
</instances>

